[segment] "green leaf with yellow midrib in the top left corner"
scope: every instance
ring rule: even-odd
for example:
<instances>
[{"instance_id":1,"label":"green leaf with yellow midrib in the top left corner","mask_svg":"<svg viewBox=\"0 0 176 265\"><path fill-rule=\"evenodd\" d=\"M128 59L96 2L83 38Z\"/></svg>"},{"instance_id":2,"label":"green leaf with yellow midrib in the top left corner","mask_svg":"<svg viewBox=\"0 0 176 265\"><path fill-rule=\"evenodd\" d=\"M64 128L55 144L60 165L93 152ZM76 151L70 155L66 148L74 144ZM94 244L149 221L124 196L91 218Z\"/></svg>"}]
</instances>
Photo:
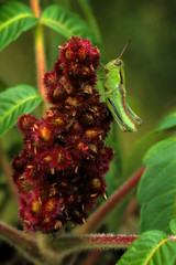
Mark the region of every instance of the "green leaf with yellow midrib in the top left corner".
<instances>
[{"instance_id":1,"label":"green leaf with yellow midrib in the top left corner","mask_svg":"<svg viewBox=\"0 0 176 265\"><path fill-rule=\"evenodd\" d=\"M23 3L0 3L0 51L37 21L32 10Z\"/></svg>"}]
</instances>

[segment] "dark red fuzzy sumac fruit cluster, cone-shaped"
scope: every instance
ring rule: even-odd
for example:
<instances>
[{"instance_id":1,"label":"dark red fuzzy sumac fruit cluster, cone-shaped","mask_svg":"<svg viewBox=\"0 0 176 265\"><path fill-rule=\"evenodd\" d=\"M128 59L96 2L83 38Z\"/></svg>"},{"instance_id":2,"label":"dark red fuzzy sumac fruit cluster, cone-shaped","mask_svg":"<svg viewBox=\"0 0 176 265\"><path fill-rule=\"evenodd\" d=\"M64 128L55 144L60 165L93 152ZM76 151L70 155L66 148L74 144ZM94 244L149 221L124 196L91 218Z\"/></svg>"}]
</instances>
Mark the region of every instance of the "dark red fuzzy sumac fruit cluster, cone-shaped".
<instances>
[{"instance_id":1,"label":"dark red fuzzy sumac fruit cluster, cone-shaped","mask_svg":"<svg viewBox=\"0 0 176 265\"><path fill-rule=\"evenodd\" d=\"M113 150L103 142L111 115L95 88L100 53L73 36L59 47L59 59L44 76L52 105L41 120L23 115L21 153L12 161L24 230L50 233L67 222L86 222L106 191L103 176Z\"/></svg>"}]
</instances>

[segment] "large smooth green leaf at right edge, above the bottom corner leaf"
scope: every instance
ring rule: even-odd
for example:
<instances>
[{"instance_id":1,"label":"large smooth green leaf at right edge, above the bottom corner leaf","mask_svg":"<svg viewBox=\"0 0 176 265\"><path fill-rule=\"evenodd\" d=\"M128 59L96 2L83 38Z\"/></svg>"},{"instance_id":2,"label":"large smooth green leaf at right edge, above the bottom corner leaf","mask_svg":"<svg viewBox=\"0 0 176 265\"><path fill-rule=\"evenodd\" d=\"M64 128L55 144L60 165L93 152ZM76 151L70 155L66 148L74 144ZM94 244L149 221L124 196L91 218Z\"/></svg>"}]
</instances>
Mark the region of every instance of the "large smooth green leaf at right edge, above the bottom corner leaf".
<instances>
[{"instance_id":1,"label":"large smooth green leaf at right edge, above the bottom corner leaf","mask_svg":"<svg viewBox=\"0 0 176 265\"><path fill-rule=\"evenodd\" d=\"M142 205L140 231L160 229L169 233L169 221L176 214L176 138L153 146L144 157L146 170L138 189Z\"/></svg>"}]
</instances>

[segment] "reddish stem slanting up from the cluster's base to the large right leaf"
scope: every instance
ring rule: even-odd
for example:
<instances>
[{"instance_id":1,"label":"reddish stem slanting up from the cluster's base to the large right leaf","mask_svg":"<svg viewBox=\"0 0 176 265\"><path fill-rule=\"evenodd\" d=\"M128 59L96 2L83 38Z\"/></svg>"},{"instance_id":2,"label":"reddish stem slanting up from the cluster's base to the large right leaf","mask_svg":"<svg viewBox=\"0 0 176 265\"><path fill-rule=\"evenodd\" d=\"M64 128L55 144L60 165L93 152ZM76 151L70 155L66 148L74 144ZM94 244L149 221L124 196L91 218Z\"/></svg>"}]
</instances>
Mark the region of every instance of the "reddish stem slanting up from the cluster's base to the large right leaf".
<instances>
[{"instance_id":1,"label":"reddish stem slanting up from the cluster's base to the large right leaf","mask_svg":"<svg viewBox=\"0 0 176 265\"><path fill-rule=\"evenodd\" d=\"M77 230L75 230L74 234L86 234L90 233L100 223L103 219L118 205L119 202L134 188L134 186L140 181L145 167L142 167L138 172L135 172L127 182L123 183L122 187L107 201L105 202L89 219L88 222Z\"/></svg>"}]
</instances>

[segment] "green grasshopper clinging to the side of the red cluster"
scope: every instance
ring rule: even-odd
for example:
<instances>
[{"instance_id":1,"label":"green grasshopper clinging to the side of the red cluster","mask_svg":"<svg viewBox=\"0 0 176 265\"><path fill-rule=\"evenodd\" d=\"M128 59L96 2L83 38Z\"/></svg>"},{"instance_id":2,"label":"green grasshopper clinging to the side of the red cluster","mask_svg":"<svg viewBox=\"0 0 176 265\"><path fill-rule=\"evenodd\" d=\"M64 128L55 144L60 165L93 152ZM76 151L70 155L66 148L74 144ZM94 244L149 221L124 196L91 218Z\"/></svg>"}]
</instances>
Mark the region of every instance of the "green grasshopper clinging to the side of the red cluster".
<instances>
[{"instance_id":1,"label":"green grasshopper clinging to the side of the red cluster","mask_svg":"<svg viewBox=\"0 0 176 265\"><path fill-rule=\"evenodd\" d=\"M106 95L107 106L121 130L136 131L135 126L141 125L142 120L125 102L124 63L120 60L129 43L130 40L118 59L112 60L106 66L101 65L106 75L106 92L103 95Z\"/></svg>"}]
</instances>

